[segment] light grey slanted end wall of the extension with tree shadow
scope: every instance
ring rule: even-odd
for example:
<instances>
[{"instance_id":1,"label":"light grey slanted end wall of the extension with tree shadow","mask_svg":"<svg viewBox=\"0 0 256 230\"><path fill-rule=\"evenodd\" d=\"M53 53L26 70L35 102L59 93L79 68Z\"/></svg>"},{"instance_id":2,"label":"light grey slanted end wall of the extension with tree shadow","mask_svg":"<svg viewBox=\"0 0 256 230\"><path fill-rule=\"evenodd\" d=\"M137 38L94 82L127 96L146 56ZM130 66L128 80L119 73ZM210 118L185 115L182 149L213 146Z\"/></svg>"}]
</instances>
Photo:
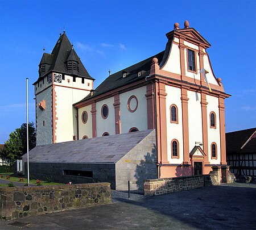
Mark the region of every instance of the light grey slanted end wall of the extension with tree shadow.
<instances>
[{"instance_id":1,"label":"light grey slanted end wall of the extension with tree shadow","mask_svg":"<svg viewBox=\"0 0 256 230\"><path fill-rule=\"evenodd\" d=\"M156 162L154 130L116 163L115 189L127 190L127 181L131 181L131 190L143 190L144 179L158 176Z\"/></svg>"}]
</instances>

